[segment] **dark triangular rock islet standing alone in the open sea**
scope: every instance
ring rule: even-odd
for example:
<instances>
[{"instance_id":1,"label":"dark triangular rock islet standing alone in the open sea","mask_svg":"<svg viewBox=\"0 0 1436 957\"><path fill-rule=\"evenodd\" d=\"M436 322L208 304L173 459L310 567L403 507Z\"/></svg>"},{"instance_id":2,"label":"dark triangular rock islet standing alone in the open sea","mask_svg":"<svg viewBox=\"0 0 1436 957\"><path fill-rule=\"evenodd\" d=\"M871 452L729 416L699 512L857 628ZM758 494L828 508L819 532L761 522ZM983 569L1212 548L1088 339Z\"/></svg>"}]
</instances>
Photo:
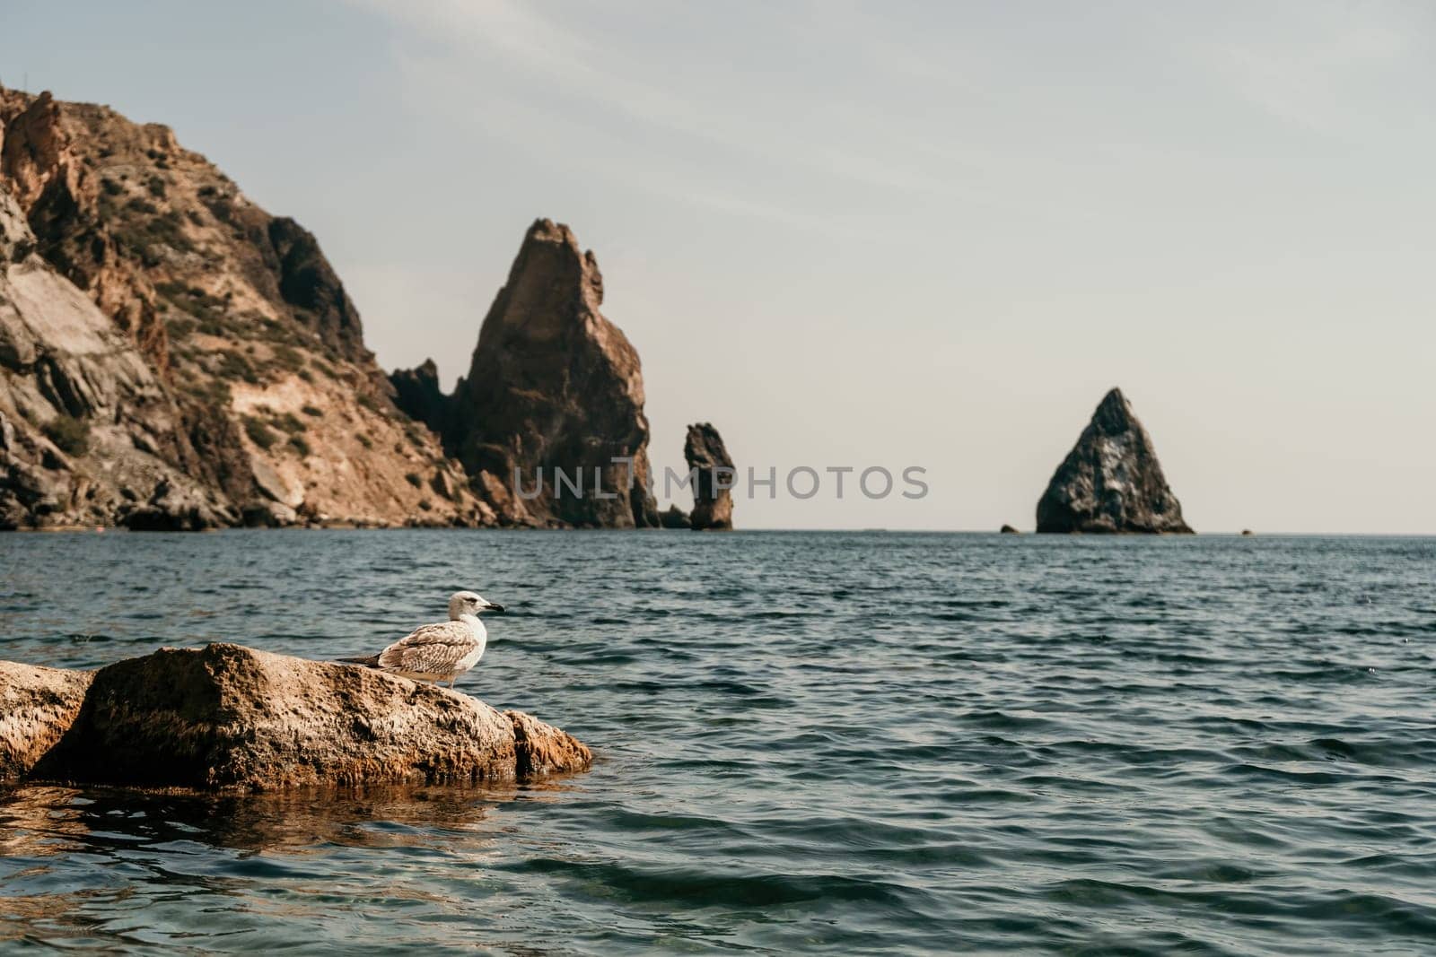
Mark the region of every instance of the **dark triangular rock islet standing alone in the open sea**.
<instances>
[{"instance_id":1,"label":"dark triangular rock islet standing alone in the open sea","mask_svg":"<svg viewBox=\"0 0 1436 957\"><path fill-rule=\"evenodd\" d=\"M1120 389L1097 406L1037 502L1038 532L1185 532L1152 436Z\"/></svg>"}]
</instances>

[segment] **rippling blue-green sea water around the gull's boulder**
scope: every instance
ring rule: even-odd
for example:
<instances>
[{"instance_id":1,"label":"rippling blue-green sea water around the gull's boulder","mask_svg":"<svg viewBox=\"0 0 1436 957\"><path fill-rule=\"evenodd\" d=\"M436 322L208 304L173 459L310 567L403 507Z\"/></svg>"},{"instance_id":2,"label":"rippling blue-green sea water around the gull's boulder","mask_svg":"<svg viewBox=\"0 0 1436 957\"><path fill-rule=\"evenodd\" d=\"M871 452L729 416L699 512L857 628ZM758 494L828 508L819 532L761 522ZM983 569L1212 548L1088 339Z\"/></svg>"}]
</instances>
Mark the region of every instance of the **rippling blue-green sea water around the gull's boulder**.
<instances>
[{"instance_id":1,"label":"rippling blue-green sea water around the gull's boulder","mask_svg":"<svg viewBox=\"0 0 1436 957\"><path fill-rule=\"evenodd\" d=\"M491 791L0 795L0 950L1436 951L1436 539L0 537L0 659L507 605Z\"/></svg>"}]
</instances>

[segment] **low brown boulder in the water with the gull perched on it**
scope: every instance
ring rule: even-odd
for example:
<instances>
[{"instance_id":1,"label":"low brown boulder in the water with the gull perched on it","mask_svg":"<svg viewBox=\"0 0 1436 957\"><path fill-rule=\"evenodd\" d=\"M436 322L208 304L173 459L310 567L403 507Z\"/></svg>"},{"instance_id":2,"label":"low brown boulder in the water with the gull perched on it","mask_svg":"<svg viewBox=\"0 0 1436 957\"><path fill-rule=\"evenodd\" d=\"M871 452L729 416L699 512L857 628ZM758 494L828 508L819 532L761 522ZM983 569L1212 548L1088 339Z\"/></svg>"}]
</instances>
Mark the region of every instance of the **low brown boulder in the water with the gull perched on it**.
<instances>
[{"instance_id":1,"label":"low brown boulder in the water with the gull perched on it","mask_svg":"<svg viewBox=\"0 0 1436 957\"><path fill-rule=\"evenodd\" d=\"M210 644L96 671L73 726L34 776L277 791L504 781L582 770L590 760L559 729L448 689Z\"/></svg>"}]
</instances>

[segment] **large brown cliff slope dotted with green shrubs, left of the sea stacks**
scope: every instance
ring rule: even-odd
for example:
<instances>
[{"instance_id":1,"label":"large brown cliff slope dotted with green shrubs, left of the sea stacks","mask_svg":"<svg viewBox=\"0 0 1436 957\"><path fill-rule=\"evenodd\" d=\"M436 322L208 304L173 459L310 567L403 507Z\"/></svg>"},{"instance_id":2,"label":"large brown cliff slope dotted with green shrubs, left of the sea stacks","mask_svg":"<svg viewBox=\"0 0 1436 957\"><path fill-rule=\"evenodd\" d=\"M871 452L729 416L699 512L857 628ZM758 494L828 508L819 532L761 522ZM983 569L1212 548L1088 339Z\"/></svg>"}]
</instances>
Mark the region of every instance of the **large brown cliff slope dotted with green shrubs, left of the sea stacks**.
<instances>
[{"instance_id":1,"label":"large brown cliff slope dotted with green shrubs, left of the sea stacks","mask_svg":"<svg viewBox=\"0 0 1436 957\"><path fill-rule=\"evenodd\" d=\"M0 89L0 521L494 521L395 407L314 237L168 128Z\"/></svg>"}]
</instances>

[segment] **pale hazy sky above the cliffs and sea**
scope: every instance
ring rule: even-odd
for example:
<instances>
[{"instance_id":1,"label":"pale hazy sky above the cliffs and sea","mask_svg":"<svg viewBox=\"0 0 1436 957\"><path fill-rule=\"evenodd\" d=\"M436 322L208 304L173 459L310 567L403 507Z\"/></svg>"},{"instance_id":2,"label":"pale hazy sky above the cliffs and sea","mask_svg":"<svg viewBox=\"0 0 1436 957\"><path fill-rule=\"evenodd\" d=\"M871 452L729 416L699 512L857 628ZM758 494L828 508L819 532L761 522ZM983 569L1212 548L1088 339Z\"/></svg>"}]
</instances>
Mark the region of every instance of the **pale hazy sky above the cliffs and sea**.
<instances>
[{"instance_id":1,"label":"pale hazy sky above the cliffs and sea","mask_svg":"<svg viewBox=\"0 0 1436 957\"><path fill-rule=\"evenodd\" d=\"M1031 528L1120 386L1198 531L1436 534L1430 4L0 0L0 82L172 126L447 385L567 222L656 471L777 471L740 527Z\"/></svg>"}]
</instances>

